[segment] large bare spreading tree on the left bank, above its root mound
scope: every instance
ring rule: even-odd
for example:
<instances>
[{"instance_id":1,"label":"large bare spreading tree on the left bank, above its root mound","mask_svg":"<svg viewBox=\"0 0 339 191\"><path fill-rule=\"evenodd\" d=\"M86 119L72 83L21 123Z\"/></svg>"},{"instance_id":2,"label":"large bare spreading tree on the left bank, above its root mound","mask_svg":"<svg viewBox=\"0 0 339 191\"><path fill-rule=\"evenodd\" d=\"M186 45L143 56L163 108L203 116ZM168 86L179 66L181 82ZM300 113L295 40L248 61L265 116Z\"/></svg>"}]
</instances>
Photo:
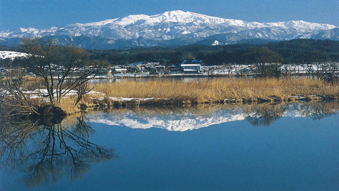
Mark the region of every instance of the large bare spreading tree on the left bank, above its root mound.
<instances>
[{"instance_id":1,"label":"large bare spreading tree on the left bank, above its root mound","mask_svg":"<svg viewBox=\"0 0 339 191\"><path fill-rule=\"evenodd\" d=\"M73 44L58 46L53 39L23 38L20 44L28 54L27 71L41 78L46 97L52 105L60 103L71 91L78 90L78 103L83 94L88 93L88 80L102 73L107 62L89 61L85 50Z\"/></svg>"}]
</instances>

